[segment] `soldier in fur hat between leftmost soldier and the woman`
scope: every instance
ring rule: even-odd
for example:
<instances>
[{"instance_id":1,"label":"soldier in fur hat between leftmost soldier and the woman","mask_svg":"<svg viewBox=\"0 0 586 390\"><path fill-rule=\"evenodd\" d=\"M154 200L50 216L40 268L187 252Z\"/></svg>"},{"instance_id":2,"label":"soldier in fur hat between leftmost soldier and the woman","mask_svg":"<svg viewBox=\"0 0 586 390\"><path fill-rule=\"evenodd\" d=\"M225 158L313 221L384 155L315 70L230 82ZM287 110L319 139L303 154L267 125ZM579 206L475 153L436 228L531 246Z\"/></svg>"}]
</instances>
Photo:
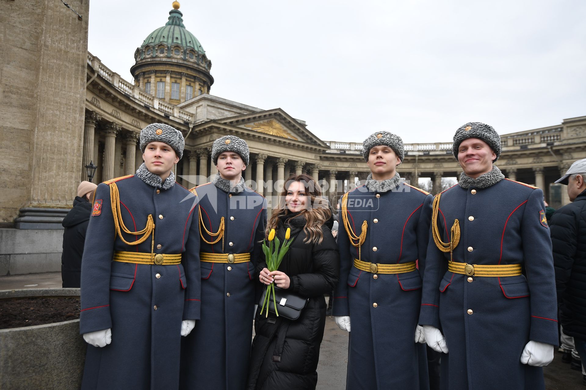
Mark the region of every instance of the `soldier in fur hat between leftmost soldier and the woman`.
<instances>
[{"instance_id":1,"label":"soldier in fur hat between leftmost soldier and the woman","mask_svg":"<svg viewBox=\"0 0 586 390\"><path fill-rule=\"evenodd\" d=\"M267 223L266 199L242 178L249 158L246 141L217 139L216 177L191 190L199 199L202 320L182 343L182 389L246 386L258 303L253 275Z\"/></svg>"}]
</instances>

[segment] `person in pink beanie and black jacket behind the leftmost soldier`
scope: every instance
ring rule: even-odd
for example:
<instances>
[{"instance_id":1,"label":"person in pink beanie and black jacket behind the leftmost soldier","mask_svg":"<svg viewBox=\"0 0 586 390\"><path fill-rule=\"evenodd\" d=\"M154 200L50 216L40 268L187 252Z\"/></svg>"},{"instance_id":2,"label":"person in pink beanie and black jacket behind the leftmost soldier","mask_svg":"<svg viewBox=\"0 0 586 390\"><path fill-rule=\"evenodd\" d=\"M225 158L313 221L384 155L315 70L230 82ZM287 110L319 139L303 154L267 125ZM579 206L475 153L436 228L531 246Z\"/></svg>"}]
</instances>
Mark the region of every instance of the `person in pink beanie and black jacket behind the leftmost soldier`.
<instances>
[{"instance_id":1,"label":"person in pink beanie and black jacket behind the leftmost soldier","mask_svg":"<svg viewBox=\"0 0 586 390\"><path fill-rule=\"evenodd\" d=\"M77 187L73 208L69 210L61 223L65 229L61 255L61 279L64 288L80 287L81 256L91 214L90 197L97 187L94 183L82 181Z\"/></svg>"}]
</instances>

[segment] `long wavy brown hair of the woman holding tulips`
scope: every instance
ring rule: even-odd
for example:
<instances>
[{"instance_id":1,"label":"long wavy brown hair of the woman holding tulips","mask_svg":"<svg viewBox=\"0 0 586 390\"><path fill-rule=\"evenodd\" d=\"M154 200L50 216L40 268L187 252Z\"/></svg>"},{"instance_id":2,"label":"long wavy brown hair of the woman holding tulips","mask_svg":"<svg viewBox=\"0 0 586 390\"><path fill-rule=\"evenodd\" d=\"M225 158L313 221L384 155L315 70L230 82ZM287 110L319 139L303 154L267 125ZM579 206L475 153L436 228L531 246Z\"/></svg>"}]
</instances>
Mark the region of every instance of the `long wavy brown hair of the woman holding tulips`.
<instances>
[{"instance_id":1,"label":"long wavy brown hair of the woman holding tulips","mask_svg":"<svg viewBox=\"0 0 586 390\"><path fill-rule=\"evenodd\" d=\"M319 185L315 182L314 178L310 175L291 175L285 181L285 185L279 195L279 203L276 208L272 210L271 218L267 223L267 236L271 229L277 230L279 218L287 216L291 212L285 205L285 196L289 186L292 182L298 181L305 188L305 196L309 199L306 201L306 209L302 210L299 215L305 217L305 226L303 231L305 232L305 243L321 244L323 241L322 226L332 216L332 212L329 209L328 200L322 197L322 190Z\"/></svg>"}]
</instances>

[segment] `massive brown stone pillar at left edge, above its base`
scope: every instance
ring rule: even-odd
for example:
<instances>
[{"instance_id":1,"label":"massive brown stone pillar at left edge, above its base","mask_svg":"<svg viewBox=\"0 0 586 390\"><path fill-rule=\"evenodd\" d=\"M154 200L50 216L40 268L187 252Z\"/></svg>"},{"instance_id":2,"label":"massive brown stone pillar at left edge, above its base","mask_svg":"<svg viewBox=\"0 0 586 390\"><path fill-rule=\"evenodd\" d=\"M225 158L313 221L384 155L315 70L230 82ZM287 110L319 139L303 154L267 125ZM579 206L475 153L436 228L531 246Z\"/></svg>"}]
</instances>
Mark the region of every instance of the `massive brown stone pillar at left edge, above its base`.
<instances>
[{"instance_id":1,"label":"massive brown stone pillar at left edge, above its base","mask_svg":"<svg viewBox=\"0 0 586 390\"><path fill-rule=\"evenodd\" d=\"M0 222L67 208L79 184L88 0L0 1Z\"/></svg>"}]
</instances>

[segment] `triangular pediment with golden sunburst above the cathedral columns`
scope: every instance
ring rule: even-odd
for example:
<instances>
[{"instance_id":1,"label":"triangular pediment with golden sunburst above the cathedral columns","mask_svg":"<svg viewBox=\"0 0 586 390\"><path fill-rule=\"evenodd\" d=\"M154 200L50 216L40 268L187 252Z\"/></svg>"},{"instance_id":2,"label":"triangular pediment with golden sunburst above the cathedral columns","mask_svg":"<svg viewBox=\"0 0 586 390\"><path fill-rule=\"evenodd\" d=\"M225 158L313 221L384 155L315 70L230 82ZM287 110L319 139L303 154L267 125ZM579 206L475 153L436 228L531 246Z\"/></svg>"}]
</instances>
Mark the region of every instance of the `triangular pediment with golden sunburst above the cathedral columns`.
<instances>
[{"instance_id":1,"label":"triangular pediment with golden sunburst above the cathedral columns","mask_svg":"<svg viewBox=\"0 0 586 390\"><path fill-rule=\"evenodd\" d=\"M274 137L327 147L322 140L306 129L304 123L292 118L280 108L216 119L215 122Z\"/></svg>"}]
</instances>

